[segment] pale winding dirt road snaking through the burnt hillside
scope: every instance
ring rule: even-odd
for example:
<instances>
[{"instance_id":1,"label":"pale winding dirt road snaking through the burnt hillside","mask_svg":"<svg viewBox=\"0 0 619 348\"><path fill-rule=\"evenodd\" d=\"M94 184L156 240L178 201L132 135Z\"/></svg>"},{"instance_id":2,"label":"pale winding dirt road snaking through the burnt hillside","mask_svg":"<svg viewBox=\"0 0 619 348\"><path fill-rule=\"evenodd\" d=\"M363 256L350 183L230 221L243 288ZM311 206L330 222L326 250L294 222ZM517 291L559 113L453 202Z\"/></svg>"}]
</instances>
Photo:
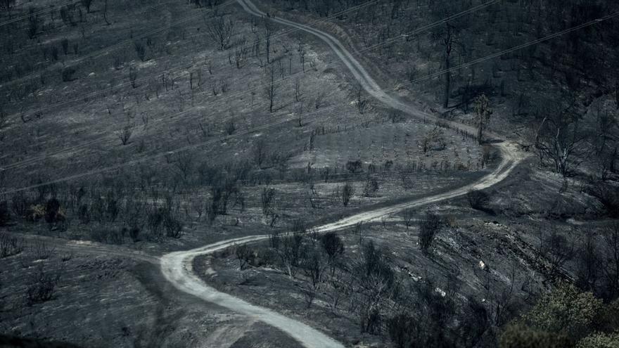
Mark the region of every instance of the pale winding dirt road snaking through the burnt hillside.
<instances>
[{"instance_id":1,"label":"pale winding dirt road snaking through the burnt hillside","mask_svg":"<svg viewBox=\"0 0 619 348\"><path fill-rule=\"evenodd\" d=\"M250 0L237 1L248 13L256 15L258 17L267 17L266 13L260 11L260 9L258 9ZM378 99L378 101L381 101L381 103L384 103L391 108L402 110L402 112L406 112L412 117L438 121L438 117L429 115L426 112L422 112L421 110L417 110L414 106L408 105L406 102L400 100L400 98L390 96L385 91L383 91L383 89L378 86L374 79L372 79L369 73L366 72L364 67L362 67L362 65L350 54L350 52L345 49L343 44L341 44L338 39L332 37L330 34L321 32L312 27L308 27L307 25L291 22L282 18L269 17L269 20L277 22L281 25L298 28L299 30L305 31L309 34L313 34L314 36L319 37L319 39L325 41L326 44L328 44L328 46L333 49L337 56L348 67L350 72L352 72L352 75L355 76L355 79L357 79L362 84L363 88L369 94L371 94L371 96L374 96L374 98ZM459 124L456 122L446 122L445 120L440 121L443 124L458 127L459 129L466 130L473 134L475 132L475 129L464 124ZM499 138L495 134L487 135L494 138ZM314 231L318 231L320 233L336 231L340 228L353 226L358 222L376 220L384 217L385 215L394 214L409 207L419 207L421 205L428 205L430 203L456 198L461 195L465 195L468 191L472 189L480 190L499 183L509 175L511 170L516 167L519 162L521 162L521 160L523 159L523 155L521 153L518 153L518 151L516 150L516 144L514 143L500 142L495 143L494 146L496 146L501 152L502 161L499 165L497 165L497 168L494 169L494 171L492 171L487 176L484 176L476 183L471 183L469 185L457 188L453 191L449 191L446 193L440 193L438 195L432 195L426 198L399 203L398 205L394 205L391 207L383 207L376 210L370 210L367 212L355 214L345 219L333 222L331 224L318 226L314 228ZM279 330L287 333L295 340L298 340L298 342L300 342L305 347L343 347L343 344L336 342L336 340L333 340L331 337L328 337L324 333L321 333L319 330L307 326L305 323L295 321L281 314L277 314L276 312L269 309L257 307L253 304L243 301L242 299L238 299L237 297L228 295L223 292L219 292L215 290L215 288L207 285L198 276L196 276L196 274L193 273L193 259L199 255L212 254L217 250L222 250L232 245L253 243L259 240L265 240L267 238L269 238L269 236L267 235L235 238L231 240L224 240L222 242L212 245L207 245L205 247L200 247L194 250L165 254L164 256L162 256L160 262L161 271L163 273L163 276L165 276L165 278L179 290L189 293L191 295L195 295L205 301L218 304L219 306L225 307L226 309L231 309L232 311L236 311L238 313L245 314L257 320L263 321L264 323L274 326L275 328L278 328Z\"/></svg>"}]
</instances>

